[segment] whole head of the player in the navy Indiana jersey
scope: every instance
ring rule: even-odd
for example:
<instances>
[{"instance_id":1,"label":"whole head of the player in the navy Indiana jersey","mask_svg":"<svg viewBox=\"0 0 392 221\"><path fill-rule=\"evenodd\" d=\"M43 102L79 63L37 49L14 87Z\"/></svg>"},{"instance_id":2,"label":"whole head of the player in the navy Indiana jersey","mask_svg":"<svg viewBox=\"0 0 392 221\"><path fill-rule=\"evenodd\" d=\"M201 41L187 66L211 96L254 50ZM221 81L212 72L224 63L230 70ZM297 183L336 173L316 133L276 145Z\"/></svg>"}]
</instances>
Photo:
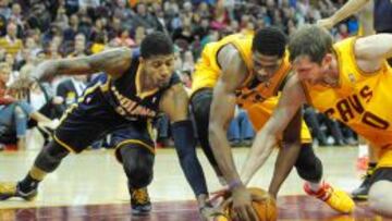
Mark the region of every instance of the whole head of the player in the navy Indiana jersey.
<instances>
[{"instance_id":1,"label":"whole head of the player in the navy Indiana jersey","mask_svg":"<svg viewBox=\"0 0 392 221\"><path fill-rule=\"evenodd\" d=\"M157 87L168 85L174 71L173 42L161 32L149 34L142 41L140 63L149 81Z\"/></svg>"}]
</instances>

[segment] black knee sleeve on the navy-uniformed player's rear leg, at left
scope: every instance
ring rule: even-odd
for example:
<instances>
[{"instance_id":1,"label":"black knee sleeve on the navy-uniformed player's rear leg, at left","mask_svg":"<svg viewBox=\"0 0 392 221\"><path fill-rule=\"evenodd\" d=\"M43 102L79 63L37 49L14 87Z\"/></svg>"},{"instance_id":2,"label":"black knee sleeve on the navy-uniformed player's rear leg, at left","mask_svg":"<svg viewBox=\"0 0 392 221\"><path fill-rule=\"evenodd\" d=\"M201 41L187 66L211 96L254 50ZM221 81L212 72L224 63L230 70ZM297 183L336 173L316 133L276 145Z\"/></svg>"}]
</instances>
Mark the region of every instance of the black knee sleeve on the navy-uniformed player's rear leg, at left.
<instances>
[{"instance_id":1,"label":"black knee sleeve on the navy-uniformed player's rear leg, at left","mask_svg":"<svg viewBox=\"0 0 392 221\"><path fill-rule=\"evenodd\" d=\"M60 165L61 160L69 154L70 151L57 142L50 142L38 154L34 164L40 170L50 173Z\"/></svg>"}]
</instances>

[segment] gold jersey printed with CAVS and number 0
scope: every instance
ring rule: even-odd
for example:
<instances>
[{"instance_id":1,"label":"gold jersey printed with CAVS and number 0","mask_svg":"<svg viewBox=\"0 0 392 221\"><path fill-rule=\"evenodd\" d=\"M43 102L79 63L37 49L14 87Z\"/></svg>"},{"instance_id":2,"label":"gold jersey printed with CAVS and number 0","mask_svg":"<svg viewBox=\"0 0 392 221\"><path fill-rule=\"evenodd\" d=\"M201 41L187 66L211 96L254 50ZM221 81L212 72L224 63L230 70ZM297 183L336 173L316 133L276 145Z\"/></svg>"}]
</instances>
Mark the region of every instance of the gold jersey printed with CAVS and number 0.
<instances>
[{"instance_id":1,"label":"gold jersey printed with CAVS and number 0","mask_svg":"<svg viewBox=\"0 0 392 221\"><path fill-rule=\"evenodd\" d=\"M362 71L354 54L355 40L334 45L338 88L303 83L304 90L311 106L348 125L384 155L392 150L392 70L384 61L376 72ZM380 165L392 167L392 160L380 160Z\"/></svg>"}]
</instances>

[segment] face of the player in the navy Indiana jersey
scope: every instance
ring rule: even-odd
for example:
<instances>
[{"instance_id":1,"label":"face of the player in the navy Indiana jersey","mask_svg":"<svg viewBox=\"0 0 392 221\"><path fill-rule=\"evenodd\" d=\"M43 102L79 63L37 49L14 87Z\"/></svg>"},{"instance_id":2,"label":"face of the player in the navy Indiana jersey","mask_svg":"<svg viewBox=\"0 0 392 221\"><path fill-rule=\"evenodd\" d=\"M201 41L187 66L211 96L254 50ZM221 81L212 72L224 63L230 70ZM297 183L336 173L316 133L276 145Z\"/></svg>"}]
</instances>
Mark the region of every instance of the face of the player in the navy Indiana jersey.
<instances>
[{"instance_id":1,"label":"face of the player in the navy Indiana jersey","mask_svg":"<svg viewBox=\"0 0 392 221\"><path fill-rule=\"evenodd\" d=\"M155 56L144 62L146 74L150 76L155 87L164 87L169 84L174 72L174 54Z\"/></svg>"}]
</instances>

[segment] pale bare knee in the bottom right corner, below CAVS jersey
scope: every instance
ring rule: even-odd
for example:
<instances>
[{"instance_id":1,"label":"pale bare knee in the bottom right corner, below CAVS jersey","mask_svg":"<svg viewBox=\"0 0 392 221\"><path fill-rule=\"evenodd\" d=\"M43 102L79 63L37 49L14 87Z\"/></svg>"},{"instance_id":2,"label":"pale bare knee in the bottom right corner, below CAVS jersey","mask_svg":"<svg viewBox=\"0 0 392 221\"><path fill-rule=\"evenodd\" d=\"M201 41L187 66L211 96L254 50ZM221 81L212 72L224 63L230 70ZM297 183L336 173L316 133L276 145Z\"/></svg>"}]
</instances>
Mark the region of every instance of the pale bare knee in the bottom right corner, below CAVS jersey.
<instances>
[{"instance_id":1,"label":"pale bare knee in the bottom right corner, below CAVS jersey","mask_svg":"<svg viewBox=\"0 0 392 221\"><path fill-rule=\"evenodd\" d=\"M392 182L377 181L369 189L369 207L379 214L392 217Z\"/></svg>"}]
</instances>

